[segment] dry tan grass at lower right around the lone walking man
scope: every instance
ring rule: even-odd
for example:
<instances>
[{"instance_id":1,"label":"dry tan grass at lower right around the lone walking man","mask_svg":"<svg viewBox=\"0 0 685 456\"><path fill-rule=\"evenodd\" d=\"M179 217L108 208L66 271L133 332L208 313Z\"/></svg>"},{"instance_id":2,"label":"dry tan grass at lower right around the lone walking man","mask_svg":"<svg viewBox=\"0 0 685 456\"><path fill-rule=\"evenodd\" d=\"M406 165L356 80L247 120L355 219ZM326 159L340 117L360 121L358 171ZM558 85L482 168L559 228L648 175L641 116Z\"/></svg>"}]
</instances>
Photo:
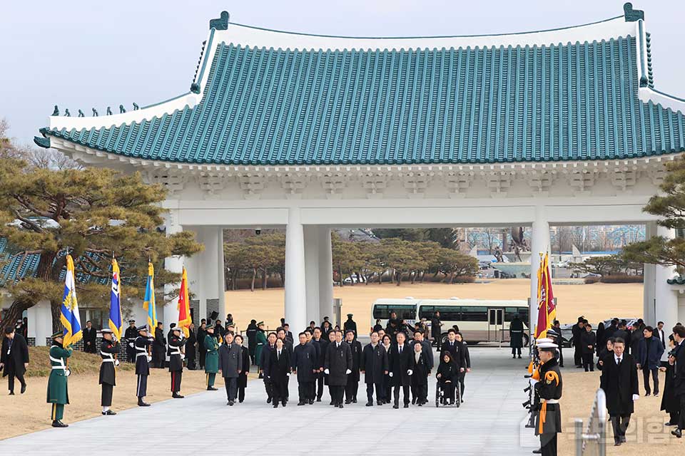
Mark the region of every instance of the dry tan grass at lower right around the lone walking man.
<instances>
[{"instance_id":1,"label":"dry tan grass at lower right around the lone walking man","mask_svg":"<svg viewBox=\"0 0 685 456\"><path fill-rule=\"evenodd\" d=\"M566 351L572 356L570 350ZM566 352L564 354L566 354ZM681 455L682 441L671 435L673 427L666 427L664 423L669 415L661 412L661 396L644 397L642 388L642 373L639 372L641 398L635 403L635 413L632 415L628 431L627 442L620 447L614 447L614 434L611 423L607 423L607 456L630 455ZM592 398L599 388L599 372L585 373L582 369L562 369L564 391L562 395L562 420L564 432L559 434L559 456L574 456L573 419L587 418L592 408ZM664 386L664 375L660 373L661 390ZM594 454L594 453L591 453Z\"/></svg>"}]
</instances>

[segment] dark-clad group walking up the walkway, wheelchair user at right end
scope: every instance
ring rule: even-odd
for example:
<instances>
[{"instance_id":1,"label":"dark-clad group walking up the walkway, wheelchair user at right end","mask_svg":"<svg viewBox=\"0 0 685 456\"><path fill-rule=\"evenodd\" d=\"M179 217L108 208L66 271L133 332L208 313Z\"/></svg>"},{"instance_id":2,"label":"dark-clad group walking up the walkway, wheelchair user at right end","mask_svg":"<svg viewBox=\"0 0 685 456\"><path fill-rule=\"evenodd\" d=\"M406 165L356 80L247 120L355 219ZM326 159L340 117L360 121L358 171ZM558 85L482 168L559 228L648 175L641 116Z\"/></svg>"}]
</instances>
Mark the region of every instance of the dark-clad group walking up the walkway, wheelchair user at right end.
<instances>
[{"instance_id":1,"label":"dark-clad group walking up the walkway, wheelchair user at right end","mask_svg":"<svg viewBox=\"0 0 685 456\"><path fill-rule=\"evenodd\" d=\"M258 346L258 369L264 380L267 403L274 408L288 403L288 383L291 376L298 381L298 405L321 402L328 385L330 405L343 408L357 403L359 383L366 385L366 406L393 404L400 408L400 393L404 408L410 403L427 403L428 381L435 378L445 392L446 400L463 400L464 378L470 371L470 356L461 334L450 329L442 344L440 363L435 371L432 344L422 328L414 328L408 337L399 321L390 321L388 328L372 328L370 343L362 347L357 340L356 323L348 315L343 329L333 328L324 321L298 333L295 343L289 331L280 327L268 334L263 346ZM354 323L354 324L352 324ZM397 331L393 331L397 328ZM258 334L255 340L258 340ZM455 390L460 388L455 399Z\"/></svg>"}]
</instances>

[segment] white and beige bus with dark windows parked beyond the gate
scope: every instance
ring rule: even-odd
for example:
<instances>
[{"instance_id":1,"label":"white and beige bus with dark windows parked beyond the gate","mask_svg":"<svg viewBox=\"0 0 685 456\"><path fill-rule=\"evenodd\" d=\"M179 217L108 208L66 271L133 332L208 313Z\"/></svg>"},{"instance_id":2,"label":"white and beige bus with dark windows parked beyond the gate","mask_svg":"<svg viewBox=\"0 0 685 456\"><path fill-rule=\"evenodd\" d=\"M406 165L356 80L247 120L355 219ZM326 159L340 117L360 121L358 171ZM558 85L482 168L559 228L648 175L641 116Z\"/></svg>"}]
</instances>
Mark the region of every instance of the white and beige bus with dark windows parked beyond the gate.
<instances>
[{"instance_id":1,"label":"white and beige bus with dark windows parked beyond the gate","mask_svg":"<svg viewBox=\"0 0 685 456\"><path fill-rule=\"evenodd\" d=\"M385 328L390 314L395 312L397 318L414 325L421 318L430 319L435 311L440 311L442 336L457 325L464 339L471 343L508 342L509 323L518 315L524 325L523 342L528 344L528 302L523 300L492 299L377 299L371 308L371 327L380 319Z\"/></svg>"}]
</instances>

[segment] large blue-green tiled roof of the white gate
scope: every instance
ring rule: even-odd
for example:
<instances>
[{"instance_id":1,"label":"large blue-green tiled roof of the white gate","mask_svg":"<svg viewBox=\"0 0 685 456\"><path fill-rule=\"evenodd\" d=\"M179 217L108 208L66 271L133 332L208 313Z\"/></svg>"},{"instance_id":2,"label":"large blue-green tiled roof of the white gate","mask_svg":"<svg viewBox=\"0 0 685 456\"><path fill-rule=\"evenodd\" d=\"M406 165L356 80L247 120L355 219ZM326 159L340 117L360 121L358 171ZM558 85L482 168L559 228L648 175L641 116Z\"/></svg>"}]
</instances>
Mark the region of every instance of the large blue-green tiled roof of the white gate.
<instances>
[{"instance_id":1,"label":"large blue-green tiled roof of the white gate","mask_svg":"<svg viewBox=\"0 0 685 456\"><path fill-rule=\"evenodd\" d=\"M223 165L544 162L685 150L638 97L636 38L552 46L283 50L218 43L198 105L47 136ZM206 52L206 51L205 51ZM649 86L651 45L646 36Z\"/></svg>"}]
</instances>

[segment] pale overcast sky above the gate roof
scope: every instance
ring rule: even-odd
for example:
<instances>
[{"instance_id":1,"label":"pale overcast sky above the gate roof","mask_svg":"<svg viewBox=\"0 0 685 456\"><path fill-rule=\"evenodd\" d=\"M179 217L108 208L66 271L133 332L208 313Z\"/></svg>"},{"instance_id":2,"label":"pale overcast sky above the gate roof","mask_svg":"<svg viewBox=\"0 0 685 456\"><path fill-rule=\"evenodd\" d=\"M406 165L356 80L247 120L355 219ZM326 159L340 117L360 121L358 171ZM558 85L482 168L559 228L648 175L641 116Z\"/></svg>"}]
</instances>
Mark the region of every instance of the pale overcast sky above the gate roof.
<instances>
[{"instance_id":1,"label":"pale overcast sky above the gate roof","mask_svg":"<svg viewBox=\"0 0 685 456\"><path fill-rule=\"evenodd\" d=\"M0 118L30 142L53 106L101 115L188 91L208 21L348 36L468 35L587 24L618 0L0 1ZM651 32L654 84L685 97L685 1L634 1ZM275 43L276 44L276 43Z\"/></svg>"}]
</instances>

